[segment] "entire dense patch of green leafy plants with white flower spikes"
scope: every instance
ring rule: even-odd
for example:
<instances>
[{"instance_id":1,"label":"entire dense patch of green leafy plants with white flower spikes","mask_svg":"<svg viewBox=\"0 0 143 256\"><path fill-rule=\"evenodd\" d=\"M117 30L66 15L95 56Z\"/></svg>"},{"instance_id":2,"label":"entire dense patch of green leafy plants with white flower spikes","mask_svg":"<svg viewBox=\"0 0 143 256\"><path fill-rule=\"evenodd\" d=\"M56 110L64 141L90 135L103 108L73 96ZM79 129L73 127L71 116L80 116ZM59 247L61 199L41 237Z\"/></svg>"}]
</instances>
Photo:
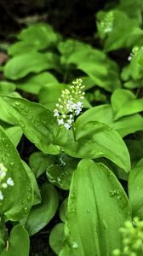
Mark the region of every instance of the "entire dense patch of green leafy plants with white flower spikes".
<instances>
[{"instance_id":1,"label":"entire dense patch of green leafy plants with white flower spikes","mask_svg":"<svg viewBox=\"0 0 143 256\"><path fill-rule=\"evenodd\" d=\"M142 10L140 0L121 0L98 12L99 49L43 23L9 45L0 82L1 256L30 255L30 237L57 212L56 255L143 255ZM26 161L21 137L35 145Z\"/></svg>"}]
</instances>

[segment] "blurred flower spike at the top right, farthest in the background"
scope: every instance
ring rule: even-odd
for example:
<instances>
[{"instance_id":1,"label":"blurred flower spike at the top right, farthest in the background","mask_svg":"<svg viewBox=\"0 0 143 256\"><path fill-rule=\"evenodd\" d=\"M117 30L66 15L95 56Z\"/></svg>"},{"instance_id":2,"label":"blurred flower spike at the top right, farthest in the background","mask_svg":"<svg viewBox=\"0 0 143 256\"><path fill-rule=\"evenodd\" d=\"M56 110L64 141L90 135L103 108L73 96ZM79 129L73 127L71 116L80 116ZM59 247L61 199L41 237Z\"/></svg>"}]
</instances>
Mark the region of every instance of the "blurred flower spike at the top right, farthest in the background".
<instances>
[{"instance_id":1,"label":"blurred flower spike at the top right, farthest in the background","mask_svg":"<svg viewBox=\"0 0 143 256\"><path fill-rule=\"evenodd\" d=\"M112 11L108 12L105 16L105 19L100 22L99 29L102 34L112 32L114 21L114 14Z\"/></svg>"}]
</instances>

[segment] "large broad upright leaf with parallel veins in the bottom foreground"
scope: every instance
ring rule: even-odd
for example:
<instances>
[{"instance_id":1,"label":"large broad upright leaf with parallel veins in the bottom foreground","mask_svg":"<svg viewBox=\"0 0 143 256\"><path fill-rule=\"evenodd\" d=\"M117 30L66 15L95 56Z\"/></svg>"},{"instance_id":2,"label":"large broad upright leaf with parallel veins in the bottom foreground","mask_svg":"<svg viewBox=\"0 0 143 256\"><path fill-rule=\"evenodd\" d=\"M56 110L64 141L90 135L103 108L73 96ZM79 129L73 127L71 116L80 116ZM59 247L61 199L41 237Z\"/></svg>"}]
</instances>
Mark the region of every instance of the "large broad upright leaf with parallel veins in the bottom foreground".
<instances>
[{"instance_id":1,"label":"large broad upright leaf with parallel veins in the bottom foreground","mask_svg":"<svg viewBox=\"0 0 143 256\"><path fill-rule=\"evenodd\" d=\"M113 211L112 211L113 209ZM111 256L131 207L117 177L102 163L81 160L74 172L60 256Z\"/></svg>"}]
</instances>

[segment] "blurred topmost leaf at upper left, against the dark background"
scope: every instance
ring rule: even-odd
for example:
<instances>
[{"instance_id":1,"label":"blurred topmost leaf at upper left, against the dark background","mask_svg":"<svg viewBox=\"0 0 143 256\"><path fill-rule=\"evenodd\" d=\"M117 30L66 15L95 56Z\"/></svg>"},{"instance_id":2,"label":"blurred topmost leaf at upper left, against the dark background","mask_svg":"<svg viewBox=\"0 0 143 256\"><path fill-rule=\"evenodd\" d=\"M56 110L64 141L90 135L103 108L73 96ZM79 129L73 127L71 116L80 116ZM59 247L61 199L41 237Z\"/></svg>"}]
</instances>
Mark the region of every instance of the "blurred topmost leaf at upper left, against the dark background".
<instances>
[{"instance_id":1,"label":"blurred topmost leaf at upper left, against the dark background","mask_svg":"<svg viewBox=\"0 0 143 256\"><path fill-rule=\"evenodd\" d=\"M58 35L48 24L37 23L23 29L18 38L37 49L46 49L57 42Z\"/></svg>"}]
</instances>

